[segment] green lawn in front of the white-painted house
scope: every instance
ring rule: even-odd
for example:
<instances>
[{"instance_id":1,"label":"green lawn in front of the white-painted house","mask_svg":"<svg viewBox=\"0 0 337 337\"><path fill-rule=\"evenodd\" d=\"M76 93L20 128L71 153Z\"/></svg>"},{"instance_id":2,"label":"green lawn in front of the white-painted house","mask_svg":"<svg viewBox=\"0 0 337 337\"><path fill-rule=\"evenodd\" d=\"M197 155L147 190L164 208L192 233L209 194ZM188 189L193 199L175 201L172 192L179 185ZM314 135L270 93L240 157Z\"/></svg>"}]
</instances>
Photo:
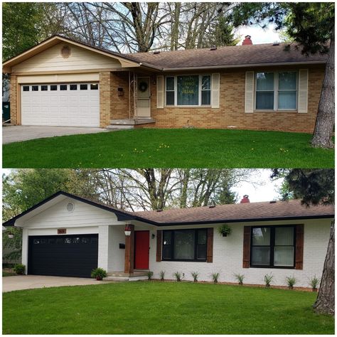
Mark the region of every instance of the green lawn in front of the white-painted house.
<instances>
[{"instance_id":1,"label":"green lawn in front of the white-painted house","mask_svg":"<svg viewBox=\"0 0 337 337\"><path fill-rule=\"evenodd\" d=\"M315 293L169 282L125 282L3 294L5 334L332 334Z\"/></svg>"}]
</instances>

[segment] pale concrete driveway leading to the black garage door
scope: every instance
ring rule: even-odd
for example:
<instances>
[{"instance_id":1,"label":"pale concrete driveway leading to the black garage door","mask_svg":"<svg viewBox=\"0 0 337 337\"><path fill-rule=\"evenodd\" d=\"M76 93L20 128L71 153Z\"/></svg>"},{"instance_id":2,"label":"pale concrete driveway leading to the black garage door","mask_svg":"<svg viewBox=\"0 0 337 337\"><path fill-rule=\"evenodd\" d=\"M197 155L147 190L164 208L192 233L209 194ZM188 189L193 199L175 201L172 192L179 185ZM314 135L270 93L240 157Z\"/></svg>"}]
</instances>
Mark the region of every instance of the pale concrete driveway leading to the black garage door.
<instances>
[{"instance_id":1,"label":"pale concrete driveway leading to the black garage door","mask_svg":"<svg viewBox=\"0 0 337 337\"><path fill-rule=\"evenodd\" d=\"M2 277L2 292L50 288L64 286L84 286L87 284L104 284L108 282L96 281L95 279L82 279L80 277L58 277L58 276L38 276L20 275Z\"/></svg>"}]
</instances>

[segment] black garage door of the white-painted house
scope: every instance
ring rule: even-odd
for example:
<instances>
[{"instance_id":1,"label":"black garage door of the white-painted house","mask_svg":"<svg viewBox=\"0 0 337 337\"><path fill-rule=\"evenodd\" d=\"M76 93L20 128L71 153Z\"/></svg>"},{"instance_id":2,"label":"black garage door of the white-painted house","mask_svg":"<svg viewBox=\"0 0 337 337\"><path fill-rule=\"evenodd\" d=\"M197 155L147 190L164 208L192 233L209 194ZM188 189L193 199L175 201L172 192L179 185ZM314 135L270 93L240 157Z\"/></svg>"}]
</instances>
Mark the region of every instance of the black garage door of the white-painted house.
<instances>
[{"instance_id":1,"label":"black garage door of the white-painted house","mask_svg":"<svg viewBox=\"0 0 337 337\"><path fill-rule=\"evenodd\" d=\"M97 260L98 234L29 237L28 274L90 277Z\"/></svg>"}]
</instances>

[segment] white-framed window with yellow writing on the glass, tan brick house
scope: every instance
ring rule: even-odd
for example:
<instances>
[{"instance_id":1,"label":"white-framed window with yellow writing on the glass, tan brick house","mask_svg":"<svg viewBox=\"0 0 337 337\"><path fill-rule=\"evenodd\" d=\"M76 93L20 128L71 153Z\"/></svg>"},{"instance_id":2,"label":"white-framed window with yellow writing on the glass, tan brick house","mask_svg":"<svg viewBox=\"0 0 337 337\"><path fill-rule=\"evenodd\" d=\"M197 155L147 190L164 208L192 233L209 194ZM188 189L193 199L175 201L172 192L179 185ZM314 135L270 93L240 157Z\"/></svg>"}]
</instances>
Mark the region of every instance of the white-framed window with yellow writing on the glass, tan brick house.
<instances>
[{"instance_id":1,"label":"white-framed window with yellow writing on the glass, tan brick house","mask_svg":"<svg viewBox=\"0 0 337 337\"><path fill-rule=\"evenodd\" d=\"M166 105L210 105L210 75L166 77Z\"/></svg>"}]
</instances>

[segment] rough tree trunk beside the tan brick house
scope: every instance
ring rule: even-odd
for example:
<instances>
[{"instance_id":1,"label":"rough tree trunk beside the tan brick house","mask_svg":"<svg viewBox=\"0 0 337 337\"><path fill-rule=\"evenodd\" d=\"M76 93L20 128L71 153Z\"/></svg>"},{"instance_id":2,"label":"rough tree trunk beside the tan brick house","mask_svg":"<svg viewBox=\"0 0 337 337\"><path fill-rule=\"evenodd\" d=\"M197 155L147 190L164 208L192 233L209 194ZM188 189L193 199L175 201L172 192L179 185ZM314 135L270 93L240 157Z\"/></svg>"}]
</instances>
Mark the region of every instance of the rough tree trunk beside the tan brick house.
<instances>
[{"instance_id":1,"label":"rough tree trunk beside the tan brick house","mask_svg":"<svg viewBox=\"0 0 337 337\"><path fill-rule=\"evenodd\" d=\"M316 117L311 146L333 148L333 124L335 122L335 36L331 37L328 61L324 74L319 111Z\"/></svg>"}]
</instances>

